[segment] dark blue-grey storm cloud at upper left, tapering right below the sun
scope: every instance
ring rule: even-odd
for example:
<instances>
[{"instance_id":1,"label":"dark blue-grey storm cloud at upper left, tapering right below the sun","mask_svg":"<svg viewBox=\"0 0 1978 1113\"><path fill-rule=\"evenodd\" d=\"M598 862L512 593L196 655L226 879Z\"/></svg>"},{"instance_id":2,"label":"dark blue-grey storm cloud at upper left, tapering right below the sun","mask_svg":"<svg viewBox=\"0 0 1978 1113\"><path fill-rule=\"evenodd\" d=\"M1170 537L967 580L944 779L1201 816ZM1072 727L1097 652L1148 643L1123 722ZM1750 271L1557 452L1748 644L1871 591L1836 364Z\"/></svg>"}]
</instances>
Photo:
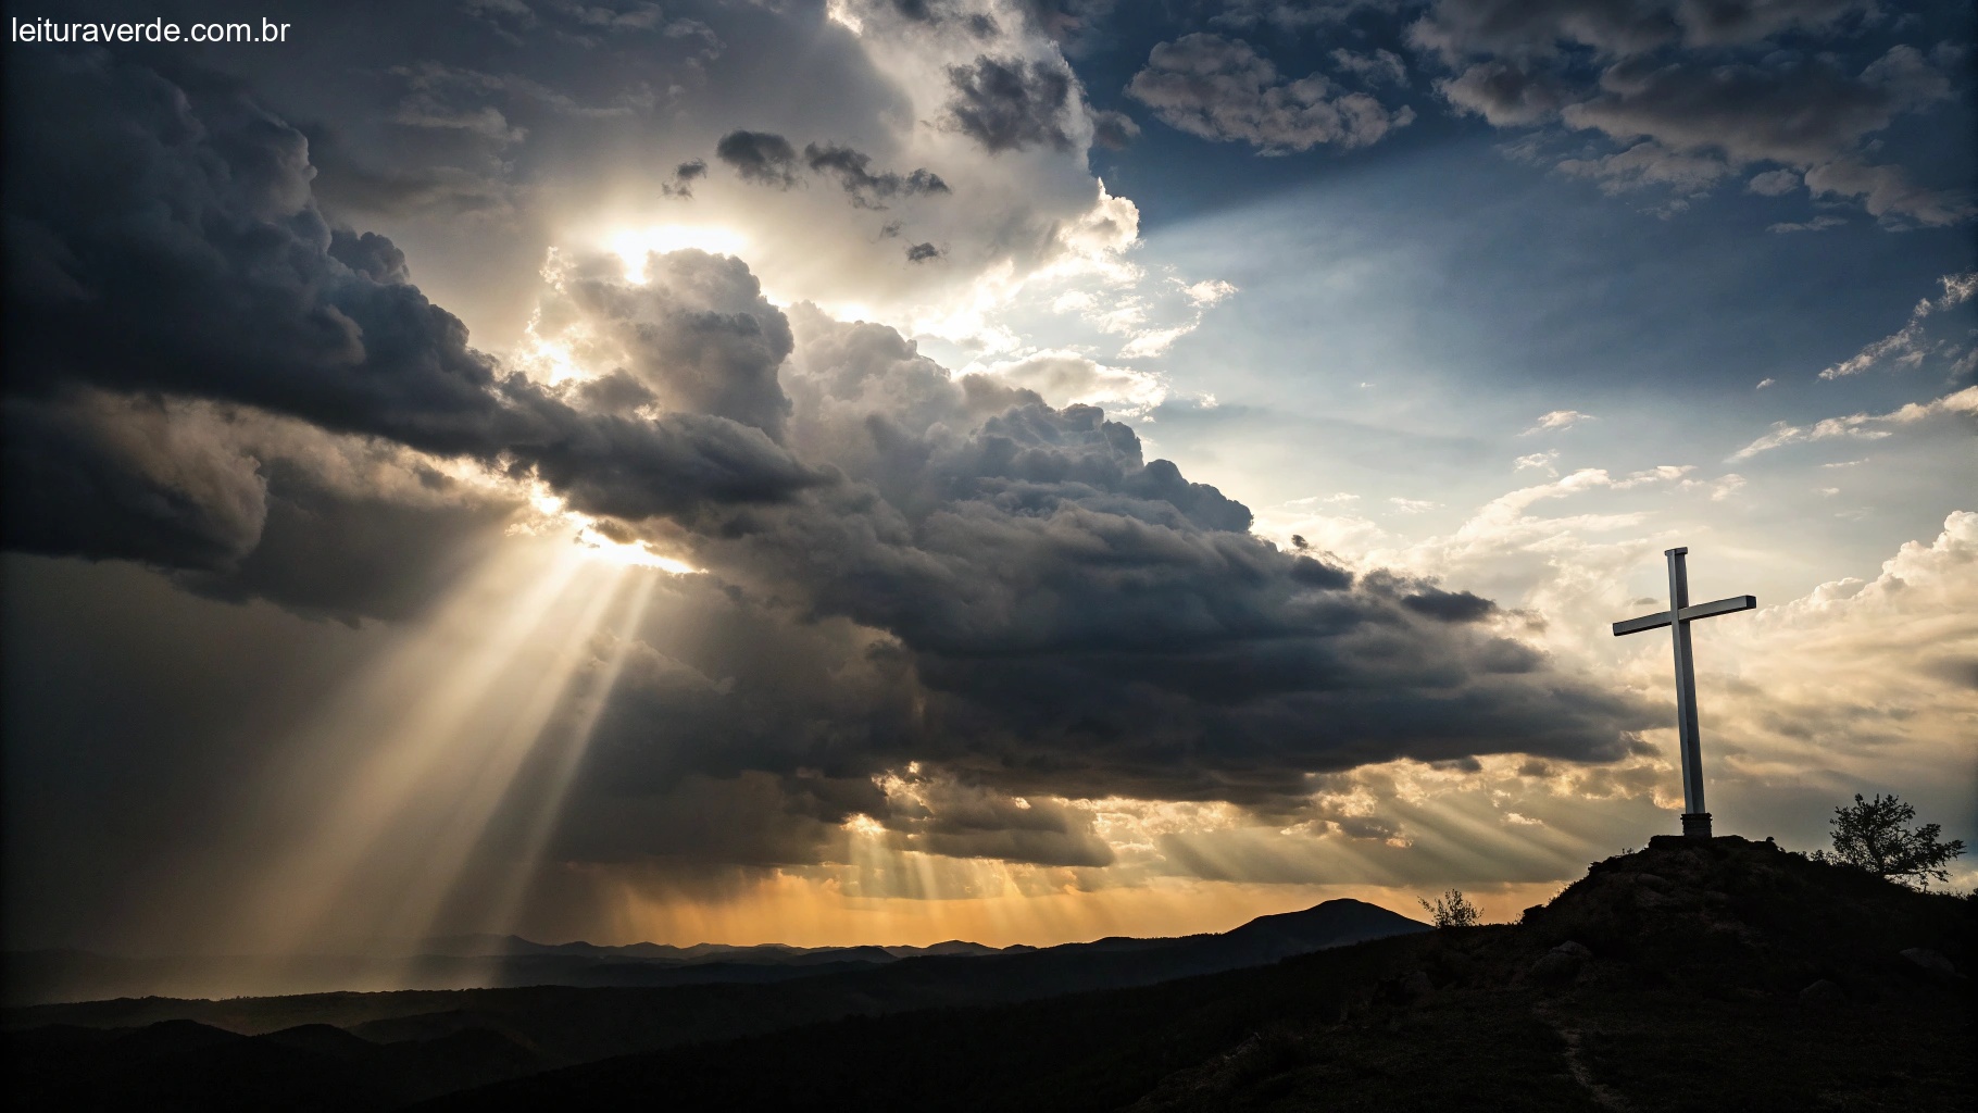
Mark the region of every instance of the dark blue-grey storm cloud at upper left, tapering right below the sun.
<instances>
[{"instance_id":1,"label":"dark blue-grey storm cloud at upper left, tapering right below the sun","mask_svg":"<svg viewBox=\"0 0 1978 1113\"><path fill-rule=\"evenodd\" d=\"M44 105L6 134L10 397L59 405L87 385L241 403L534 472L627 518L819 482L760 427L587 413L506 374L405 283L390 241L330 229L303 134L235 93L101 53L24 53L8 85ZM28 443L61 427L75 425L40 421ZM79 453L49 467L111 459Z\"/></svg>"}]
</instances>

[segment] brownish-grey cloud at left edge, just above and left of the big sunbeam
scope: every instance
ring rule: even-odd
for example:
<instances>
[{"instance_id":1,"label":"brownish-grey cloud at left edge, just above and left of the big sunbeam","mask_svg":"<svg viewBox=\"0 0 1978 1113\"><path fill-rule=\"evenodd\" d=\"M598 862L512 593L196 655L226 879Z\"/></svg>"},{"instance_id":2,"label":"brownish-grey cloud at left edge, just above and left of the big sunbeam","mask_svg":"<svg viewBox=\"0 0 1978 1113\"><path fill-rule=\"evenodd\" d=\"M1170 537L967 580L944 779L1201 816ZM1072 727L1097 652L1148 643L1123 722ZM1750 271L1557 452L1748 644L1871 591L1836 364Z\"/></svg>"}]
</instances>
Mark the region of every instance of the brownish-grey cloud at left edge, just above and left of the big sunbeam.
<instances>
[{"instance_id":1,"label":"brownish-grey cloud at left edge, just above and left of the big sunbeam","mask_svg":"<svg viewBox=\"0 0 1978 1113\"><path fill-rule=\"evenodd\" d=\"M394 445L208 403L10 397L6 433L8 548L316 617L417 613L522 508Z\"/></svg>"}]
</instances>

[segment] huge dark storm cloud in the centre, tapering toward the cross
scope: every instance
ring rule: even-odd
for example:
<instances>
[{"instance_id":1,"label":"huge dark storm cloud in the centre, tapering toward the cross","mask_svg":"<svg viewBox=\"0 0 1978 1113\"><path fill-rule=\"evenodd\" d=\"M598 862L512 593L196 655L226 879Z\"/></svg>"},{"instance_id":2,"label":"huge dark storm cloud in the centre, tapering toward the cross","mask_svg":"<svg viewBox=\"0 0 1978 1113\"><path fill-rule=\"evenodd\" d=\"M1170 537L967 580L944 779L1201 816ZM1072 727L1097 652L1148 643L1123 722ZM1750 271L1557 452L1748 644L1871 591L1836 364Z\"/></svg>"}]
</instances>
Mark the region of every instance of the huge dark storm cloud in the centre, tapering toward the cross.
<instances>
[{"instance_id":1,"label":"huge dark storm cloud in the centre, tapering toward the cross","mask_svg":"<svg viewBox=\"0 0 1978 1113\"><path fill-rule=\"evenodd\" d=\"M940 854L1096 864L1076 824L1021 834L1017 813L1052 813L1007 801L1264 803L1393 757L1612 759L1652 722L1497 637L1487 599L1272 548L1248 508L1145 461L1096 407L955 382L884 326L801 310L795 332L783 437L845 482L684 544L754 601L710 599L732 611L692 625L811 648L690 662L726 690L680 670L629 682L591 791L918 761L949 801L977 795L975 834L902 803L916 793L858 811Z\"/></svg>"}]
</instances>

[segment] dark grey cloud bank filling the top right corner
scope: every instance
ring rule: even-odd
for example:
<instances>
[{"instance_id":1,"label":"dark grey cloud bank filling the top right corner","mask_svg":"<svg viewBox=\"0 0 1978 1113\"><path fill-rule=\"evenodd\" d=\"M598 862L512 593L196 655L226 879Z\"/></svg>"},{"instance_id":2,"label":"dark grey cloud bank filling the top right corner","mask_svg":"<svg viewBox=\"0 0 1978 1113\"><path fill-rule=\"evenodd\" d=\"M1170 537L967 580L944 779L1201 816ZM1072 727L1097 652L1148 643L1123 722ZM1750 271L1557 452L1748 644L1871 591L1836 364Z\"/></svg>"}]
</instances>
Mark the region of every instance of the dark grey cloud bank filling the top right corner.
<instances>
[{"instance_id":1,"label":"dark grey cloud bank filling the top right corner","mask_svg":"<svg viewBox=\"0 0 1978 1113\"><path fill-rule=\"evenodd\" d=\"M1877 22L1853 0L1438 0L1408 38L1446 67L1438 89L1458 111L1495 127L1559 121L1634 144L1561 164L1610 192L1693 194L1770 162L1808 176L1816 196L1942 225L1974 212L1958 188L1869 160L1889 158L1877 132L1899 115L1950 99L1942 57L1933 63L1915 43L1863 53L1869 28L1921 26Z\"/></svg>"}]
</instances>

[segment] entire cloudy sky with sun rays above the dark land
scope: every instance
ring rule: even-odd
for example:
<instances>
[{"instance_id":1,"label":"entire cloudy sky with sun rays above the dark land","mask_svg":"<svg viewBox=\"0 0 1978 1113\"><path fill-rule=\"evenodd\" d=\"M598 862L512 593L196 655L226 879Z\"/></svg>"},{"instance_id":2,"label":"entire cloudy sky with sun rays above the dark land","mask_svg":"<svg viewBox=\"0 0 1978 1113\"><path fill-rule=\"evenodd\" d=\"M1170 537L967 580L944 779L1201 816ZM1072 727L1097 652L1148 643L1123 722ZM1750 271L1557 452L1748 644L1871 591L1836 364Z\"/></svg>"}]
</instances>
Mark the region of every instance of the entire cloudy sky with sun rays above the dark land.
<instances>
[{"instance_id":1,"label":"entire cloudy sky with sun rays above the dark land","mask_svg":"<svg viewBox=\"0 0 1978 1113\"><path fill-rule=\"evenodd\" d=\"M1978 842L1966 4L28 8L8 949L1515 919L1675 546L1719 832Z\"/></svg>"}]
</instances>

